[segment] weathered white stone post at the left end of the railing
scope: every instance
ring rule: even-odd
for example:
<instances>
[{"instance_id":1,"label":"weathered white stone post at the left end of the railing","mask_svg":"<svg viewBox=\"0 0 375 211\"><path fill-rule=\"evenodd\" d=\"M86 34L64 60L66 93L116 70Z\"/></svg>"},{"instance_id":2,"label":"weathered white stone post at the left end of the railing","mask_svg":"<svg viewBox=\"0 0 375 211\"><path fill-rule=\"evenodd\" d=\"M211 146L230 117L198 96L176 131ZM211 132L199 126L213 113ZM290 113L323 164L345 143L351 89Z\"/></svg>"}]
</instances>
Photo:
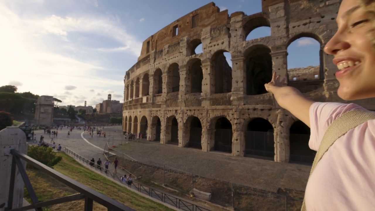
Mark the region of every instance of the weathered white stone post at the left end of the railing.
<instances>
[{"instance_id":1,"label":"weathered white stone post at the left end of the railing","mask_svg":"<svg viewBox=\"0 0 375 211\"><path fill-rule=\"evenodd\" d=\"M0 205L5 203L5 207L0 211L4 211L8 206L10 172L12 168L12 154L10 149L15 149L23 154L27 154L27 143L25 133L18 127L6 127L0 131ZM26 162L23 161L26 168ZM22 207L24 194L24 182L18 168L16 167L15 187L13 193L12 208Z\"/></svg>"}]
</instances>

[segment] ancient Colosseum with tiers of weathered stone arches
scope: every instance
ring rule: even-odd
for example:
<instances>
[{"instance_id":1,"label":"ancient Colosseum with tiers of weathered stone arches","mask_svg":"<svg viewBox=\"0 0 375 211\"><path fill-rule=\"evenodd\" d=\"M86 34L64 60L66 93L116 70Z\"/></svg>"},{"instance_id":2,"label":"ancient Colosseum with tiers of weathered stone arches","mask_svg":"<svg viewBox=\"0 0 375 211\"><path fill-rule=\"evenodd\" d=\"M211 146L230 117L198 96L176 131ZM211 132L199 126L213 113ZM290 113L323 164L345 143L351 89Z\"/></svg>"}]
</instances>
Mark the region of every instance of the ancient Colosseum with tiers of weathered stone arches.
<instances>
[{"instance_id":1,"label":"ancient Colosseum with tiers of weathered stone arches","mask_svg":"<svg viewBox=\"0 0 375 211\"><path fill-rule=\"evenodd\" d=\"M344 102L333 57L323 52L337 30L339 3L262 0L262 12L252 15L228 15L209 3L175 20L143 42L125 74L123 131L207 153L311 163L309 128L264 84L276 71L308 98ZM264 26L270 36L246 40ZM320 65L288 69L288 46L304 37L319 42ZM198 45L202 53L195 53ZM374 102L355 103L371 110Z\"/></svg>"}]
</instances>

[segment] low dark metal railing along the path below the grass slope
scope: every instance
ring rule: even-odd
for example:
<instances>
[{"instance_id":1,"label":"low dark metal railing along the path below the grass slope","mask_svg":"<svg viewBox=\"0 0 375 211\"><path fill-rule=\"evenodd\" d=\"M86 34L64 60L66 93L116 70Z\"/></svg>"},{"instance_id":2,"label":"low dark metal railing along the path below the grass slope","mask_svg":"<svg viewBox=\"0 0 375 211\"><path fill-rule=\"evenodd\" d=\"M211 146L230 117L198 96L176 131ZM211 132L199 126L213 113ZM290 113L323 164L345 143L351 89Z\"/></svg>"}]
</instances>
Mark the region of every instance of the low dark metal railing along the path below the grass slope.
<instances>
[{"instance_id":1,"label":"low dark metal railing along the path below the grass slope","mask_svg":"<svg viewBox=\"0 0 375 211\"><path fill-rule=\"evenodd\" d=\"M108 146L108 143L107 143L107 146ZM104 169L104 167L97 166L96 164L90 165L91 161L89 159L82 157L81 155L75 153L74 151L72 151L68 148L65 148L65 152L73 155L75 158L77 158L78 160L87 164L91 168L107 175L108 177L113 178L114 180L117 180L117 181L121 182L121 176L119 176L118 173L114 173L110 170L106 170L106 169ZM126 170L126 171L129 172L128 170ZM180 199L178 197L175 197L171 194L164 193L162 191L156 190L155 188L148 187L147 185L141 184L141 183L136 182L134 180L133 180L132 184L130 185L130 188L136 189L140 193L147 194L150 197L158 199L163 203L168 203L169 205L175 206L176 208L181 209L181 210L185 210L185 211L210 211L209 209L203 208L201 206L197 206L193 203L182 200L182 199Z\"/></svg>"}]
</instances>

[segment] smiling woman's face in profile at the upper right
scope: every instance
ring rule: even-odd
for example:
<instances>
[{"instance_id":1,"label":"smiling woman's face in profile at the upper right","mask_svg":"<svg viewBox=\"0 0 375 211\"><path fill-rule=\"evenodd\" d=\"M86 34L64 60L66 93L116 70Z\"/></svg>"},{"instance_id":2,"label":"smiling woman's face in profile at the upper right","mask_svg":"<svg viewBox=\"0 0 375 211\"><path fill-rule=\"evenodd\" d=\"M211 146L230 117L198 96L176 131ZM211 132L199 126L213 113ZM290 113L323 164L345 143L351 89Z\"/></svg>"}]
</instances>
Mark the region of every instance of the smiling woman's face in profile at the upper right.
<instances>
[{"instance_id":1,"label":"smiling woman's face in profile at the upper right","mask_svg":"<svg viewBox=\"0 0 375 211\"><path fill-rule=\"evenodd\" d=\"M369 36L374 24L360 0L343 0L336 18L338 31L324 47L335 56L338 95L345 100L375 97L375 50Z\"/></svg>"}]
</instances>

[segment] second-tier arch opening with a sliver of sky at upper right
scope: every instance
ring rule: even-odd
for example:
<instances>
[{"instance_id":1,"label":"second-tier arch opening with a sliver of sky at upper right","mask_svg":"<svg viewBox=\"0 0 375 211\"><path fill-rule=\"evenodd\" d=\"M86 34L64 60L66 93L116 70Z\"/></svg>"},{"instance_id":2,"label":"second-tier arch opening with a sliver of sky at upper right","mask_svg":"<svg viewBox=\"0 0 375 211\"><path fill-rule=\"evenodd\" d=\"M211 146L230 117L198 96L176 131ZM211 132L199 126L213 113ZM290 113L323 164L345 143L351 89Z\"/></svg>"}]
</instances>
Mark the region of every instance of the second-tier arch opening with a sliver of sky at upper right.
<instances>
[{"instance_id":1,"label":"second-tier arch opening with a sliver of sky at upper right","mask_svg":"<svg viewBox=\"0 0 375 211\"><path fill-rule=\"evenodd\" d=\"M216 51L211 57L211 74L214 77L214 93L232 92L232 68L225 59L226 50Z\"/></svg>"}]
</instances>

